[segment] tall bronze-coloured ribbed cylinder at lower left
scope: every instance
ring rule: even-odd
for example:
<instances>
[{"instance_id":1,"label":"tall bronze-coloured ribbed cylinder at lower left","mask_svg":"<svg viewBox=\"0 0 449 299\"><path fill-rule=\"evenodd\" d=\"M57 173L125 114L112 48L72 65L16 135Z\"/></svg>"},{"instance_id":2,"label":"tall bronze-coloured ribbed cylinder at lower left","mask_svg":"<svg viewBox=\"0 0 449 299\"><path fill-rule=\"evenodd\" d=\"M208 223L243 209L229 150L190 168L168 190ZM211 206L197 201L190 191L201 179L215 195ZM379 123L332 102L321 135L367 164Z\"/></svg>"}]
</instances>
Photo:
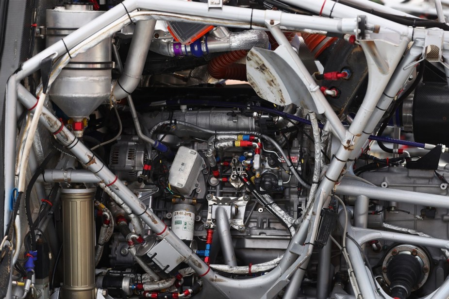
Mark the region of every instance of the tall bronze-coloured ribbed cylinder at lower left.
<instances>
[{"instance_id":1,"label":"tall bronze-coloured ribbed cylinder at lower left","mask_svg":"<svg viewBox=\"0 0 449 299\"><path fill-rule=\"evenodd\" d=\"M64 283L61 298L95 295L95 188L61 190L64 232Z\"/></svg>"}]
</instances>

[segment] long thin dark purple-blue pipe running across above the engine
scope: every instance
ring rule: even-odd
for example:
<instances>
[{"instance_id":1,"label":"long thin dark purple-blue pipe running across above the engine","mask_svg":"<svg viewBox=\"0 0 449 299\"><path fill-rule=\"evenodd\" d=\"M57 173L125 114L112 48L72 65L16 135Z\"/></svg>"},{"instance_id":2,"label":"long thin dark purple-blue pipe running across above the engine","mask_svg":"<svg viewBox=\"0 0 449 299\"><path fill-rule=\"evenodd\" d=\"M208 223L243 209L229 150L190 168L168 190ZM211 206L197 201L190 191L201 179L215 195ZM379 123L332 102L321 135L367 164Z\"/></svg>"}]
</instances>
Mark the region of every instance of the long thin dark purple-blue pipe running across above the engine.
<instances>
[{"instance_id":1,"label":"long thin dark purple-blue pipe running across above the engine","mask_svg":"<svg viewBox=\"0 0 449 299\"><path fill-rule=\"evenodd\" d=\"M229 108L236 107L236 108L241 108L241 109L248 109L248 106L243 105L243 104L237 104L237 103L229 103L228 104L228 103L215 102L215 101L210 101L210 100L166 100L166 101L164 101L164 103L160 103L160 104L164 104L167 106L170 106L170 105L206 105L206 106L214 105L214 106L220 106L220 107L229 107ZM275 115L279 115L279 116L282 116L283 118L289 118L292 120L296 120L296 121L306 124L306 125L312 124L310 122L310 120L308 120L308 119L305 119L305 118L302 118L302 117L299 117L299 116L296 116L293 114L281 112L281 111L278 111L275 109L266 108L266 107L254 107L254 109L257 109L257 110L260 110L263 112L267 112L267 113L272 113ZM324 125L318 124L318 127L320 129L322 129L324 127ZM432 145L432 144L400 140L400 139L394 139L394 138L376 136L376 135L369 135L369 139L374 140L374 141L382 141L382 142L386 142L386 143L392 143L392 144L400 144L400 145L405 145L405 146L420 148L420 149L425 149L425 150L432 150L435 147L435 145Z\"/></svg>"}]
</instances>

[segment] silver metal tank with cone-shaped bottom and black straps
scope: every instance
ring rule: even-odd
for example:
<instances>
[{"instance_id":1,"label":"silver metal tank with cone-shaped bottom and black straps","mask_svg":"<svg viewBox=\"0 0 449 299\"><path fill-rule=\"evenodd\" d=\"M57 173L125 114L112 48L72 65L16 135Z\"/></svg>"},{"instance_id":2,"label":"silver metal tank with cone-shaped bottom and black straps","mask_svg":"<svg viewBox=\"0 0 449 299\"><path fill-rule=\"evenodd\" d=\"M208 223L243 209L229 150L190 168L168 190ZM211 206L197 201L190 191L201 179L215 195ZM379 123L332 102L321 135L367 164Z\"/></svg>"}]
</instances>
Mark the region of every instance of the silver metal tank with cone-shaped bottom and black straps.
<instances>
[{"instance_id":1,"label":"silver metal tank with cone-shaped bottom and black straps","mask_svg":"<svg viewBox=\"0 0 449 299\"><path fill-rule=\"evenodd\" d=\"M66 4L47 10L47 47L102 13L94 11L91 4ZM50 99L76 121L89 116L111 94L111 47L108 37L78 54L51 84Z\"/></svg>"}]
</instances>

